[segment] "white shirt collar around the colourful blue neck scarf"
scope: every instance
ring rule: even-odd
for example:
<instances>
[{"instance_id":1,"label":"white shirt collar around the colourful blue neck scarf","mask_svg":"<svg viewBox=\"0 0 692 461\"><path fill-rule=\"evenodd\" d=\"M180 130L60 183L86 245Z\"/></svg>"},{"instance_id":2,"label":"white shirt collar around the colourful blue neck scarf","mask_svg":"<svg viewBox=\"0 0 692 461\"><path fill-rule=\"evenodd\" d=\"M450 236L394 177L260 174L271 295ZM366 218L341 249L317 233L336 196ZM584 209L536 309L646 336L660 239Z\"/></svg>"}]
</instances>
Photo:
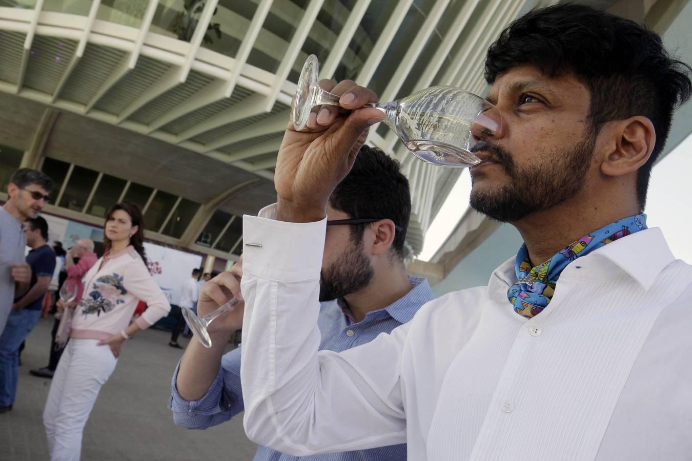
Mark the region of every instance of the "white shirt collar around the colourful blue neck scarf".
<instances>
[{"instance_id":1,"label":"white shirt collar around the colourful blue neck scarf","mask_svg":"<svg viewBox=\"0 0 692 461\"><path fill-rule=\"evenodd\" d=\"M657 276L664 268L675 261L675 256L671 252L663 232L659 227L650 227L634 234L628 235L618 240L608 243L590 254L577 258L570 265L565 267L563 276L579 276L581 278L594 278L605 276L607 267L603 263L599 264L599 258L605 258L614 263L620 270L635 279L641 288L648 290L655 282ZM509 258L491 275L488 283L488 292L491 294L500 286L505 290L509 285L516 283L516 273L514 271L515 258ZM587 269L579 271L579 275L574 269ZM558 280L558 286L560 281Z\"/></svg>"}]
</instances>

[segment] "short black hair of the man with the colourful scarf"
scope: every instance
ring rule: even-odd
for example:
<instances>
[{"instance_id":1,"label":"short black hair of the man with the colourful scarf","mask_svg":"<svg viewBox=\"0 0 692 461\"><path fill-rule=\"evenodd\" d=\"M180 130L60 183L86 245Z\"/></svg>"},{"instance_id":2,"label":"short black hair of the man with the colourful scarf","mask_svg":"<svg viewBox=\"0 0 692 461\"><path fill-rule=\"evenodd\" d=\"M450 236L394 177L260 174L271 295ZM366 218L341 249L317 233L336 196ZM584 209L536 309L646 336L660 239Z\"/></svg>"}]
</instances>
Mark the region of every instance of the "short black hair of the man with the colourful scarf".
<instances>
[{"instance_id":1,"label":"short black hair of the man with the colourful scarf","mask_svg":"<svg viewBox=\"0 0 692 461\"><path fill-rule=\"evenodd\" d=\"M656 32L588 6L534 10L511 23L488 49L485 79L530 63L550 77L574 73L591 95L590 130L643 115L656 131L649 160L637 173L641 210L651 167L666 144L676 106L692 95L692 68L673 59Z\"/></svg>"}]
</instances>

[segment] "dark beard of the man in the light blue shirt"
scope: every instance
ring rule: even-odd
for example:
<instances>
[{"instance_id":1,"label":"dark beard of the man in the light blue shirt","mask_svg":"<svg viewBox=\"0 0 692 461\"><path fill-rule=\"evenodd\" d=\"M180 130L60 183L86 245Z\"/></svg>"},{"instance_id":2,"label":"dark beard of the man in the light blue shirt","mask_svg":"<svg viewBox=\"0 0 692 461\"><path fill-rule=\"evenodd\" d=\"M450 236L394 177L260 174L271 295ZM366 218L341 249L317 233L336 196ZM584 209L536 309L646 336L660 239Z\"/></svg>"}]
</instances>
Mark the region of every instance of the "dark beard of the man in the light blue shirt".
<instances>
[{"instance_id":1,"label":"dark beard of the man in the light blue shirt","mask_svg":"<svg viewBox=\"0 0 692 461\"><path fill-rule=\"evenodd\" d=\"M343 252L339 261L322 269L320 303L340 299L364 288L372 280L374 269L363 254L363 243Z\"/></svg>"}]
</instances>

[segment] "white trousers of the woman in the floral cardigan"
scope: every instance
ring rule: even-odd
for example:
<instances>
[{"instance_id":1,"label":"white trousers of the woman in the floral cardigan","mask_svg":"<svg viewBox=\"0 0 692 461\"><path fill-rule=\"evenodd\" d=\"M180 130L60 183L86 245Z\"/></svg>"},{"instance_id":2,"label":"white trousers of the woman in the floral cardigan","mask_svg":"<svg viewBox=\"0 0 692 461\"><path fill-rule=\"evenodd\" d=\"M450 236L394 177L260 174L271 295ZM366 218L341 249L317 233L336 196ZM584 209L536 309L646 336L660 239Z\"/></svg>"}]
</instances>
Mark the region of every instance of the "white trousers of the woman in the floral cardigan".
<instances>
[{"instance_id":1,"label":"white trousers of the woman in the floral cardigan","mask_svg":"<svg viewBox=\"0 0 692 461\"><path fill-rule=\"evenodd\" d=\"M60 357L44 409L51 461L80 459L84 425L118 363L111 348L98 342L71 338Z\"/></svg>"}]
</instances>

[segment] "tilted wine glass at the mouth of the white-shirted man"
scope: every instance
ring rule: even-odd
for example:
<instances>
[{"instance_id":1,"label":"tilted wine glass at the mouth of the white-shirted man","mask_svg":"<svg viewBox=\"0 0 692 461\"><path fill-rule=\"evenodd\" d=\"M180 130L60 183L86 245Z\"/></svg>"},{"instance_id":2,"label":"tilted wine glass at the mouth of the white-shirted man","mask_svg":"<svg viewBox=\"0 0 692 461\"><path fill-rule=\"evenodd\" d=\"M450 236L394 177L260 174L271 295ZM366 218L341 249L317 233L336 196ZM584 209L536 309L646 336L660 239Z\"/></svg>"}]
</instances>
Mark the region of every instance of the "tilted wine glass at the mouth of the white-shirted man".
<instances>
[{"instance_id":1,"label":"tilted wine glass at the mouth of the white-shirted man","mask_svg":"<svg viewBox=\"0 0 692 461\"><path fill-rule=\"evenodd\" d=\"M298 79L292 121L300 131L310 111L322 104L339 106L339 97L318 85L319 64L309 55ZM481 141L503 129L502 116L482 97L453 86L432 86L393 102L368 104L385 114L383 122L406 148L424 162L441 167L472 167Z\"/></svg>"}]
</instances>

